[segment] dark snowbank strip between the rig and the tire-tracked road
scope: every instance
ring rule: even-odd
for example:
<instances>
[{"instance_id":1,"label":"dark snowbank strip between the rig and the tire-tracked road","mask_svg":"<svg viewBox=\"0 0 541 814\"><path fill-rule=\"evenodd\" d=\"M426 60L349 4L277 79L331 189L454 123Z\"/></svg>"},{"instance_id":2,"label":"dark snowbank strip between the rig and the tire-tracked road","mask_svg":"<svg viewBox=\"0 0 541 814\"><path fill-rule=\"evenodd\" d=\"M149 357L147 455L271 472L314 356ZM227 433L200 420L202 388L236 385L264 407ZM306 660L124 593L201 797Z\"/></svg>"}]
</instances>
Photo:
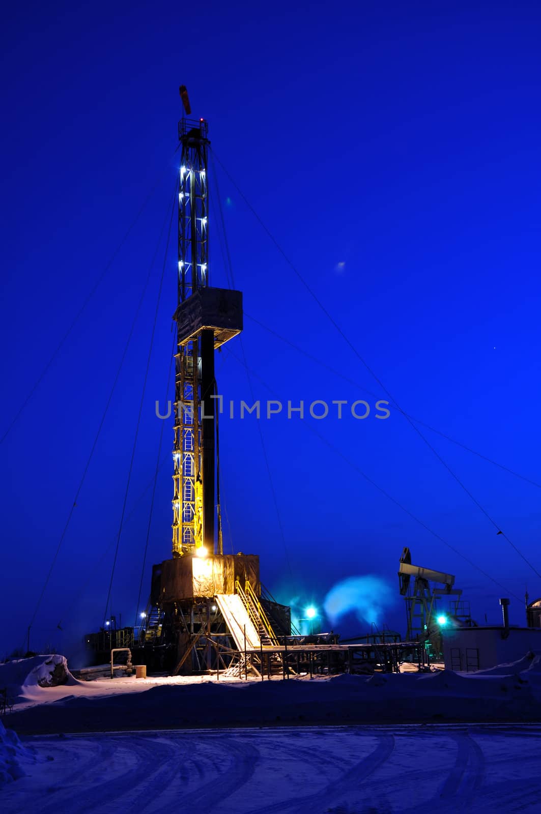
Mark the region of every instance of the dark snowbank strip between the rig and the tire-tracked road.
<instances>
[{"instance_id":1,"label":"dark snowbank strip between the rig and the tire-tracked road","mask_svg":"<svg viewBox=\"0 0 541 814\"><path fill-rule=\"evenodd\" d=\"M40 657L46 658L46 657ZM61 657L59 657L61 658ZM0 687L3 667L0 666ZM22 667L20 668L22 670ZM164 676L11 685L19 734L292 724L541 722L541 655L494 671L292 677Z\"/></svg>"}]
</instances>

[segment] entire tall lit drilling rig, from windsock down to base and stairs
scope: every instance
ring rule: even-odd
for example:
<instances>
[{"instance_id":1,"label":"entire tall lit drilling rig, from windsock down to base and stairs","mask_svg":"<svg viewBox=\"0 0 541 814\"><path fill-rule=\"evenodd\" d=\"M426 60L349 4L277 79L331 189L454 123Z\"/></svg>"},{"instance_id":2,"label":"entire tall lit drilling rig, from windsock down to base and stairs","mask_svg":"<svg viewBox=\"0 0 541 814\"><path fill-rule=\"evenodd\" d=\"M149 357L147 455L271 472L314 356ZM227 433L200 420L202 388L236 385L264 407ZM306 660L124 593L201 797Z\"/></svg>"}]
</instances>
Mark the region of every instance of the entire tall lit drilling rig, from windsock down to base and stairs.
<instances>
[{"instance_id":1,"label":"entire tall lit drilling rig, from windsock down to base and stairs","mask_svg":"<svg viewBox=\"0 0 541 814\"><path fill-rule=\"evenodd\" d=\"M180 96L172 556L152 567L139 631L115 631L114 642L113 631L103 631L86 641L103 653L121 643L154 668L206 672L232 669L235 649L276 645L291 622L286 606L262 597L257 554L223 553L214 352L243 328L242 294L209 285L208 123L189 117L184 85ZM240 671L240 656L236 664Z\"/></svg>"}]
</instances>

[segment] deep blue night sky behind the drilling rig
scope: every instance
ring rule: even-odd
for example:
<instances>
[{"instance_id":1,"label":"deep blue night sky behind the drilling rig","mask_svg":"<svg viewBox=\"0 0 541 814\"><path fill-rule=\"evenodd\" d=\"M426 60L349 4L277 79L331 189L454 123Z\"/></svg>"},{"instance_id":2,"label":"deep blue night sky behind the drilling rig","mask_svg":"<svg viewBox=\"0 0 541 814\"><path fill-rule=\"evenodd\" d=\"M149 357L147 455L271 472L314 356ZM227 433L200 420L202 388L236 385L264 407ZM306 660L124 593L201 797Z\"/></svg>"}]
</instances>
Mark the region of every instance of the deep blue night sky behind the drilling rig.
<instances>
[{"instance_id":1,"label":"deep blue night sky behind the drilling rig","mask_svg":"<svg viewBox=\"0 0 541 814\"><path fill-rule=\"evenodd\" d=\"M218 159L402 409L541 483L539 3L31 2L5 15L2 433L157 186L2 444L0 655L25 642L168 217L181 83L209 120ZM256 398L373 405L363 388L385 398L221 169L218 182L246 313L354 382L246 317ZM225 287L215 207L209 228L210 281ZM37 649L72 653L103 623L164 252L165 238L33 626ZM127 624L161 431L154 405L165 400L175 253L176 224L112 589ZM238 340L218 357L227 399L251 398L241 358ZM389 586L377 621L404 632L396 572L409 545L414 562L456 575L479 622L498 620L498 597L511 596L512 623L523 624L513 594L527 586L541 596L541 580L400 414L261 426L285 550L253 417L222 418L225 544L260 554L277 598L320 607L345 577L374 575ZM541 571L539 486L424 432ZM172 440L169 422L145 602L152 562L170 555ZM350 615L337 627L364 632L370 621Z\"/></svg>"}]
</instances>

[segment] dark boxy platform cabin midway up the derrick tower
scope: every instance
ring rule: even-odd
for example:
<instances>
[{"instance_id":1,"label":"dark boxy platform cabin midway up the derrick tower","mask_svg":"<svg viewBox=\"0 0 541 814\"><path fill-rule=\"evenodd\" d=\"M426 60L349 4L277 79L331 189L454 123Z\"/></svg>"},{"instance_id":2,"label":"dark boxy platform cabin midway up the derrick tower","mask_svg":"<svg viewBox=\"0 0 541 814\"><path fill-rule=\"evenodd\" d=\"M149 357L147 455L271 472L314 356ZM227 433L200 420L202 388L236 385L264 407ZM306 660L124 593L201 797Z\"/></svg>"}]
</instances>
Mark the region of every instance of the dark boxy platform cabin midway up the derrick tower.
<instances>
[{"instance_id":1,"label":"dark boxy platform cabin midway up the derrick tower","mask_svg":"<svg viewBox=\"0 0 541 814\"><path fill-rule=\"evenodd\" d=\"M178 306L173 318L180 344L210 329L214 331L214 348L219 348L242 330L242 291L200 288Z\"/></svg>"}]
</instances>

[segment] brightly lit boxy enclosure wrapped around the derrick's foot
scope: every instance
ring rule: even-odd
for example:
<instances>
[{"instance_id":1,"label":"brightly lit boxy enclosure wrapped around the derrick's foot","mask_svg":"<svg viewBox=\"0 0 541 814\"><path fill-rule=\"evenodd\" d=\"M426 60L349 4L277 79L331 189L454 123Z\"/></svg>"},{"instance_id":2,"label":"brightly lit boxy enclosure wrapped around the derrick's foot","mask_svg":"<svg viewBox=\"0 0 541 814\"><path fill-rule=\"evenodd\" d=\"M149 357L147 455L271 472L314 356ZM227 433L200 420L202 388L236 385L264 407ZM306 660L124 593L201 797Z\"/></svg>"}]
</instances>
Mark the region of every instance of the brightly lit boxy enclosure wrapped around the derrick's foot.
<instances>
[{"instance_id":1,"label":"brightly lit boxy enclosure wrapped around the derrick's foot","mask_svg":"<svg viewBox=\"0 0 541 814\"><path fill-rule=\"evenodd\" d=\"M153 582L155 578L159 582L162 603L235 593L237 581L243 590L249 582L256 596L261 593L257 554L209 554L204 558L186 554L155 566Z\"/></svg>"}]
</instances>

